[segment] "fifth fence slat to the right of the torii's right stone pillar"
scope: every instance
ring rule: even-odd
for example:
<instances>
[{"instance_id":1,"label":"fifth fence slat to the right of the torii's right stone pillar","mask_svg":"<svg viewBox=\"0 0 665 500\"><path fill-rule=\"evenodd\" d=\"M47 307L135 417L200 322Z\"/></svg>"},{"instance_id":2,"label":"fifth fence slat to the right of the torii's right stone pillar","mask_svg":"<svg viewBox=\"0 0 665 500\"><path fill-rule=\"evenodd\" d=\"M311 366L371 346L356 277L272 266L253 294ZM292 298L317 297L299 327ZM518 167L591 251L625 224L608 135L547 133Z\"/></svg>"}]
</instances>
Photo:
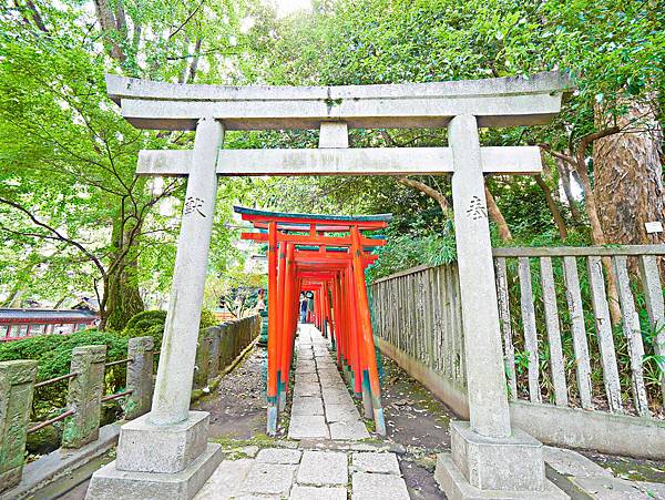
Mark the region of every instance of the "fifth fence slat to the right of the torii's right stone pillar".
<instances>
[{"instance_id":1,"label":"fifth fence slat to the right of the torii's right stone pillar","mask_svg":"<svg viewBox=\"0 0 665 500\"><path fill-rule=\"evenodd\" d=\"M595 317L596 336L601 364L603 366L603 381L610 411L622 411L621 385L618 381L618 368L616 366L616 353L614 350L614 338L612 337L612 322L610 320L610 306L605 294L605 279L603 277L603 264L601 257L591 256L586 258L589 268L589 284L591 288L591 302Z\"/></svg>"}]
</instances>

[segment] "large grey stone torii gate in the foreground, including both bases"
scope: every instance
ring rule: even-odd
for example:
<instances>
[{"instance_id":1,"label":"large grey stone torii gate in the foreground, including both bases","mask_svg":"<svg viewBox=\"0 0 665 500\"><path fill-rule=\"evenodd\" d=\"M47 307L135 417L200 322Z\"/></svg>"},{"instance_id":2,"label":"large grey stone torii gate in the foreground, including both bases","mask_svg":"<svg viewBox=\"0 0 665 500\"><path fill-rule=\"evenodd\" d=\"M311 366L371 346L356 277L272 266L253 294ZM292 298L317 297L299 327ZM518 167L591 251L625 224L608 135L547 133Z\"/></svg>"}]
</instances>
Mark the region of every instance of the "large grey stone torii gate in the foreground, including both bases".
<instances>
[{"instance_id":1,"label":"large grey stone torii gate in the foreground, including both bases","mask_svg":"<svg viewBox=\"0 0 665 500\"><path fill-rule=\"evenodd\" d=\"M142 151L139 175L187 176L152 411L125 424L117 458L89 498L191 498L221 461L208 415L190 411L217 175L452 173L470 422L450 426L437 479L449 498L565 498L544 473L542 446L511 428L483 174L533 174L536 147L481 147L479 127L548 123L571 86L559 72L442 83L223 86L106 76L111 99L141 129L195 130L192 151ZM348 127L448 127L449 147L349 149ZM227 130L319 129L309 150L223 150ZM160 494L156 494L160 492Z\"/></svg>"}]
</instances>

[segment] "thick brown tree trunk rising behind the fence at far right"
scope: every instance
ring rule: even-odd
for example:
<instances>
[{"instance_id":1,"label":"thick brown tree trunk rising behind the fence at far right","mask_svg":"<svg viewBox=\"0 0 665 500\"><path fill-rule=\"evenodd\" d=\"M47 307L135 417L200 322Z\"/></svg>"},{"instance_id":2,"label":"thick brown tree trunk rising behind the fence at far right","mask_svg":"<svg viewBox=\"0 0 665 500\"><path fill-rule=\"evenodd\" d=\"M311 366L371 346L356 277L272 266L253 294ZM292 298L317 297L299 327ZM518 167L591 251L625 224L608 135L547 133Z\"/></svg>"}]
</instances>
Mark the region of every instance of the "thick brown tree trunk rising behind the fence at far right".
<instances>
[{"instance_id":1,"label":"thick brown tree trunk rising behind the fence at far right","mask_svg":"<svg viewBox=\"0 0 665 500\"><path fill-rule=\"evenodd\" d=\"M663 131L646 104L631 103L617 121L627 132L600 139L593 146L593 194L606 243L665 243L664 233L648 234L644 225L665 222Z\"/></svg>"}]
</instances>

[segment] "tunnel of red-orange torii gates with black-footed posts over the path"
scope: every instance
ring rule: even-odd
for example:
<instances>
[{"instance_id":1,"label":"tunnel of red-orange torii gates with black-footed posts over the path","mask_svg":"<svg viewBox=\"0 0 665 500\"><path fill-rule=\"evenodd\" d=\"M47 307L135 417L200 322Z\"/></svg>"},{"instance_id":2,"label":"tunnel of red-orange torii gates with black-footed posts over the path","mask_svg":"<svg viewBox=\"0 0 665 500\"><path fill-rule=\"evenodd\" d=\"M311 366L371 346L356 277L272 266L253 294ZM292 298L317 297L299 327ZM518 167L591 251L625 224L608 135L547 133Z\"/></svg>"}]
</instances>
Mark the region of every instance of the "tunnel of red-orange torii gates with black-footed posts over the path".
<instances>
[{"instance_id":1,"label":"tunnel of red-orange torii gates with black-footed posts over the path","mask_svg":"<svg viewBox=\"0 0 665 500\"><path fill-rule=\"evenodd\" d=\"M268 258L268 419L277 431L286 405L301 292L313 292L314 323L336 351L338 368L378 433L386 433L365 269L385 245L365 235L387 227L382 215L315 215L235 207L258 232L243 239L267 242Z\"/></svg>"}]
</instances>

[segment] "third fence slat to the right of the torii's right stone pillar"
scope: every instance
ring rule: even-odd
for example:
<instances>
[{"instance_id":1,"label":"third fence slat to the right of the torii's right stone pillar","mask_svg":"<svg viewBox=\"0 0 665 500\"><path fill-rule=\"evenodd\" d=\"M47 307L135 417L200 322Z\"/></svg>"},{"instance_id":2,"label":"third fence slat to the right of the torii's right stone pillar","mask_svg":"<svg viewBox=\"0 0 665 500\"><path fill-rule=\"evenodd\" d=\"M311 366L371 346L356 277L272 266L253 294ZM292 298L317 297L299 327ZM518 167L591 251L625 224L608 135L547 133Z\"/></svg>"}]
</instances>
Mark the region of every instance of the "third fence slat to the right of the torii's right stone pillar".
<instances>
[{"instance_id":1,"label":"third fence slat to the right of the torii's right stone pillar","mask_svg":"<svg viewBox=\"0 0 665 500\"><path fill-rule=\"evenodd\" d=\"M540 258L541 287L543 290L543 306L545 313L545 327L550 344L550 368L552 384L554 385L554 402L556 406L567 406L567 386L565 382L565 365L561 347L561 330L559 328L559 308L556 307L556 290L554 288L554 273L552 259Z\"/></svg>"}]
</instances>

